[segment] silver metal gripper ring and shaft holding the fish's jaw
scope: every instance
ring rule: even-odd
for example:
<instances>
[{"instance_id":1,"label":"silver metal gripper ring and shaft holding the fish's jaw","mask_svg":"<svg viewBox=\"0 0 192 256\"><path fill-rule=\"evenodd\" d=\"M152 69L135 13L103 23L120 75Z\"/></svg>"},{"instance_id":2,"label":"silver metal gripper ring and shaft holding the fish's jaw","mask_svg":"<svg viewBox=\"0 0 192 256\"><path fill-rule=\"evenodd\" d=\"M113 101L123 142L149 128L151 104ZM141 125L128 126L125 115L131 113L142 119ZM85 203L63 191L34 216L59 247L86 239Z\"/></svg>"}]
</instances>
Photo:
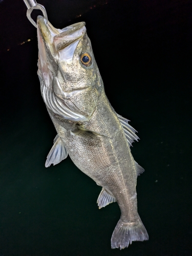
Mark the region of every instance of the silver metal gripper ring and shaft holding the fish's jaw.
<instances>
[{"instance_id":1,"label":"silver metal gripper ring and shaft holding the fish's jaw","mask_svg":"<svg viewBox=\"0 0 192 256\"><path fill-rule=\"evenodd\" d=\"M35 0L24 0L24 3L27 6L27 17L29 19L29 21L33 24L33 26L35 26L35 28L37 28L37 24L34 22L34 20L31 18L31 13L34 9L40 10L42 12L42 14L44 14L45 19L48 22L48 17L47 17L47 12L44 6L37 4L37 2Z\"/></svg>"}]
</instances>

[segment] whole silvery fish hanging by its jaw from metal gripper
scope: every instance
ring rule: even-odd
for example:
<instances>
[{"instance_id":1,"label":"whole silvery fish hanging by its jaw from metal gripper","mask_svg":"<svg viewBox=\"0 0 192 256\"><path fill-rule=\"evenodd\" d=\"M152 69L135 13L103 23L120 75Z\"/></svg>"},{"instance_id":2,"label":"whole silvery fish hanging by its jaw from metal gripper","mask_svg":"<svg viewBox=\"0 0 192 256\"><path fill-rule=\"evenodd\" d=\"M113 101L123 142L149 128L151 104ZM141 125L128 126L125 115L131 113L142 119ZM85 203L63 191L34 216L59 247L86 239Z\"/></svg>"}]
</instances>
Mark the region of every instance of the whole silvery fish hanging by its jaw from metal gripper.
<instances>
[{"instance_id":1,"label":"whole silvery fish hanging by its jaw from metal gripper","mask_svg":"<svg viewBox=\"0 0 192 256\"><path fill-rule=\"evenodd\" d=\"M130 146L136 130L117 114L104 92L84 22L63 29L37 17L40 91L57 135L46 167L66 159L101 186L99 208L117 202L120 219L111 247L148 240L137 211L137 176L144 169Z\"/></svg>"}]
</instances>

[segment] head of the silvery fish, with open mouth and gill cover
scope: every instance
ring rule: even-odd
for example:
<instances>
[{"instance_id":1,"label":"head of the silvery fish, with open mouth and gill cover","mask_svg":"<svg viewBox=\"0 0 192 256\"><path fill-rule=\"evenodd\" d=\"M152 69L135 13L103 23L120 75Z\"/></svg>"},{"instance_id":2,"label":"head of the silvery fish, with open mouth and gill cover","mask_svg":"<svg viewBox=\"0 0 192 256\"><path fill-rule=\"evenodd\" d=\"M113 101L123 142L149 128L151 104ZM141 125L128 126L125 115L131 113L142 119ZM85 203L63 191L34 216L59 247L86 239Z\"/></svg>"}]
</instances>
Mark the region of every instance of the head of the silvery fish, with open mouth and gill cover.
<instances>
[{"instance_id":1,"label":"head of the silvery fish, with open mouth and gill cover","mask_svg":"<svg viewBox=\"0 0 192 256\"><path fill-rule=\"evenodd\" d=\"M55 29L38 16L37 37L38 75L47 107L63 118L89 120L103 83L85 23Z\"/></svg>"}]
</instances>

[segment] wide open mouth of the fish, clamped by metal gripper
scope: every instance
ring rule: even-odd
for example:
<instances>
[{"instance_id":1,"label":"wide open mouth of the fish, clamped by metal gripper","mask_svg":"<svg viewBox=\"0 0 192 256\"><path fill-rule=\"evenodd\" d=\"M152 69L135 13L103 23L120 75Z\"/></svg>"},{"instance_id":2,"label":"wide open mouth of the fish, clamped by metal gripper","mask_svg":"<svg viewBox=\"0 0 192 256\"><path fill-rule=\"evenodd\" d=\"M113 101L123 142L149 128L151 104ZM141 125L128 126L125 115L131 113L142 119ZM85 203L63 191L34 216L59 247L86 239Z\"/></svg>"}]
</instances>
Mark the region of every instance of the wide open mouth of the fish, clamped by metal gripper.
<instances>
[{"instance_id":1,"label":"wide open mouth of the fish, clamped by metal gripper","mask_svg":"<svg viewBox=\"0 0 192 256\"><path fill-rule=\"evenodd\" d=\"M44 17L37 17L37 29L52 54L53 50L60 51L79 40L86 33L85 25L86 23L79 22L63 29L56 29Z\"/></svg>"}]
</instances>

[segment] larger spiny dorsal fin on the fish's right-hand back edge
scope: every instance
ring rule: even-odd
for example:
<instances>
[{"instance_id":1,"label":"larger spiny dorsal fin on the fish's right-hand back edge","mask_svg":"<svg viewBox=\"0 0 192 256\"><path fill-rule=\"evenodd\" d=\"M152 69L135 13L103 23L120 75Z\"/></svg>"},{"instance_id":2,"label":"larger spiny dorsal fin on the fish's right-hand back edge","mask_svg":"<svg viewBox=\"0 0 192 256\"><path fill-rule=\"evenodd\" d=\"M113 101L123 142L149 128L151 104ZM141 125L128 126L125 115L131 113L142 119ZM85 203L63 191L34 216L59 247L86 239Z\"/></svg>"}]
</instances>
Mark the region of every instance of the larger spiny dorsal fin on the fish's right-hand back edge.
<instances>
[{"instance_id":1,"label":"larger spiny dorsal fin on the fish's right-hand back edge","mask_svg":"<svg viewBox=\"0 0 192 256\"><path fill-rule=\"evenodd\" d=\"M127 142L129 144L129 146L132 146L132 143L134 142L134 140L138 141L138 139L139 139L139 137L135 134L135 133L137 133L137 131L128 123L130 120L128 120L118 114L117 114L117 116L122 125Z\"/></svg>"}]
</instances>

